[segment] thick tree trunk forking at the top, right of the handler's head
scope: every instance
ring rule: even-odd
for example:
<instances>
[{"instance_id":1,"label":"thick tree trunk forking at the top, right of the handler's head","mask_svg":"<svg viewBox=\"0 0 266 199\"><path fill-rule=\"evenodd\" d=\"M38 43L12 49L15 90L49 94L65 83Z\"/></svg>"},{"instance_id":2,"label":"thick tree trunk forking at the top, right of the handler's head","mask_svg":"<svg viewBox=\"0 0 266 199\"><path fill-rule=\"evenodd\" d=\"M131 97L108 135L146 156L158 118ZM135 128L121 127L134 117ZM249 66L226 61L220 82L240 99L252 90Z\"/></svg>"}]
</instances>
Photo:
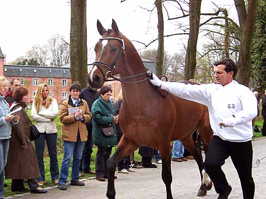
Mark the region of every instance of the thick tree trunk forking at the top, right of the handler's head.
<instances>
[{"instance_id":1,"label":"thick tree trunk forking at the top, right of the handler's head","mask_svg":"<svg viewBox=\"0 0 266 199\"><path fill-rule=\"evenodd\" d=\"M239 74L237 79L240 84L249 86L252 68L251 46L258 2L257 0L249 0L248 13L246 12L244 0L235 0L235 5L238 11L241 30L239 60L237 63Z\"/></svg>"}]
</instances>

